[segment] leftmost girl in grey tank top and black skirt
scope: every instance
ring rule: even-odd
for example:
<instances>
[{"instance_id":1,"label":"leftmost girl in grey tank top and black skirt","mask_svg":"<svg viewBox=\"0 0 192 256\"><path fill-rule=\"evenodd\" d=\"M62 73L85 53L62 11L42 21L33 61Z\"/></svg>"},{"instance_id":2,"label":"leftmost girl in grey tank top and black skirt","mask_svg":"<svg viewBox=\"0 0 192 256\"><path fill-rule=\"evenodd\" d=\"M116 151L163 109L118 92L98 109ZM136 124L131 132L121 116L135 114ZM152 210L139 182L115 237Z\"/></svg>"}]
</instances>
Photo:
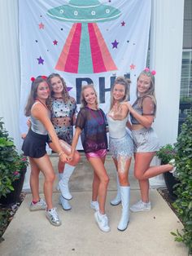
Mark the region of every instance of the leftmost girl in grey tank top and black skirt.
<instances>
[{"instance_id":1,"label":"leftmost girl in grey tank top and black skirt","mask_svg":"<svg viewBox=\"0 0 192 256\"><path fill-rule=\"evenodd\" d=\"M55 145L55 152L59 153L61 161L68 161L68 157L63 152L59 144L59 139L55 133L54 126L50 121L50 111L46 106L46 100L50 95L49 86L43 77L33 79L31 92L28 97L28 104L25 108L25 115L31 116L31 129L24 139L22 150L24 155L28 156L31 168L30 186L33 192L33 201L30 204L30 210L46 210L46 218L54 226L60 226L61 221L53 207L52 192L55 181L55 170L46 154L46 143L50 139ZM45 176L44 191L45 199L40 199L38 191L38 179L41 172Z\"/></svg>"}]
</instances>

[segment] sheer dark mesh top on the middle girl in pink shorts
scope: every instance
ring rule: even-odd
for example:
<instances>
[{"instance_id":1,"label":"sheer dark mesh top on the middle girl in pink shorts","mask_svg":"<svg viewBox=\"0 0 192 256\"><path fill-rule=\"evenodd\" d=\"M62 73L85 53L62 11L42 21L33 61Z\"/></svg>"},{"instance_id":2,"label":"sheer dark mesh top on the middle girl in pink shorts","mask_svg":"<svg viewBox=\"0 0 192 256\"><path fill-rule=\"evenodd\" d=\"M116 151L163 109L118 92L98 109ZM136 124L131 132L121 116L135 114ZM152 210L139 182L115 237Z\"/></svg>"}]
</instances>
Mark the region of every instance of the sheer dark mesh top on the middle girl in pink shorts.
<instances>
[{"instance_id":1,"label":"sheer dark mesh top on the middle girl in pink shorts","mask_svg":"<svg viewBox=\"0 0 192 256\"><path fill-rule=\"evenodd\" d=\"M107 149L107 118L101 108L81 108L76 117L76 127L81 131L81 143L85 153Z\"/></svg>"}]
</instances>

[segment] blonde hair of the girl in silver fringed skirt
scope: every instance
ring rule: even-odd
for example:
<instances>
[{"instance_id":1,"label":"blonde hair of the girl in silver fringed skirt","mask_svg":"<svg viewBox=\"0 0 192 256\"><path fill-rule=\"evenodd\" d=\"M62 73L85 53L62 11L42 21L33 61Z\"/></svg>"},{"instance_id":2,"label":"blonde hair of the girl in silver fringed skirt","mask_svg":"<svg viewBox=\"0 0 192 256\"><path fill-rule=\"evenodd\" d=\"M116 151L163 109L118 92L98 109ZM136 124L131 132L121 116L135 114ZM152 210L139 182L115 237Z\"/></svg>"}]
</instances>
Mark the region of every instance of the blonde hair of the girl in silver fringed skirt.
<instances>
[{"instance_id":1,"label":"blonde hair of the girl in silver fringed skirt","mask_svg":"<svg viewBox=\"0 0 192 256\"><path fill-rule=\"evenodd\" d=\"M111 105L110 105L110 109L113 107L114 105L114 98L113 98L113 90L114 87L119 84L121 86L124 86L124 98L121 99L121 102L124 101L128 101L129 100L129 89L130 89L130 83L131 80L129 78L124 78L124 77L116 77L116 80L113 84L113 86L111 86Z\"/></svg>"}]
</instances>

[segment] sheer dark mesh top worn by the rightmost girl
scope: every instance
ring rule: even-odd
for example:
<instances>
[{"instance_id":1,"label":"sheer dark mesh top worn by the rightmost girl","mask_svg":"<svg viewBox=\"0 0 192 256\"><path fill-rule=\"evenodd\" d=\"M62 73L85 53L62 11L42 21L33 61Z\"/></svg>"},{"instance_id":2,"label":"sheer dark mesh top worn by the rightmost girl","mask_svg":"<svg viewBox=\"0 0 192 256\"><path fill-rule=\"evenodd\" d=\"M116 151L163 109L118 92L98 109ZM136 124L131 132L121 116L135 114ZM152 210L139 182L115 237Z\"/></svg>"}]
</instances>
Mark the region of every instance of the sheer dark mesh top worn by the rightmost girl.
<instances>
[{"instance_id":1,"label":"sheer dark mesh top worn by the rightmost girl","mask_svg":"<svg viewBox=\"0 0 192 256\"><path fill-rule=\"evenodd\" d=\"M141 100L140 98L137 98L136 101L133 103L132 108L140 115L142 116L155 116L155 103L151 96L146 96L142 99L142 103L139 104L138 101ZM130 113L131 117L131 123L133 125L139 125L140 122L137 121L135 117Z\"/></svg>"}]
</instances>

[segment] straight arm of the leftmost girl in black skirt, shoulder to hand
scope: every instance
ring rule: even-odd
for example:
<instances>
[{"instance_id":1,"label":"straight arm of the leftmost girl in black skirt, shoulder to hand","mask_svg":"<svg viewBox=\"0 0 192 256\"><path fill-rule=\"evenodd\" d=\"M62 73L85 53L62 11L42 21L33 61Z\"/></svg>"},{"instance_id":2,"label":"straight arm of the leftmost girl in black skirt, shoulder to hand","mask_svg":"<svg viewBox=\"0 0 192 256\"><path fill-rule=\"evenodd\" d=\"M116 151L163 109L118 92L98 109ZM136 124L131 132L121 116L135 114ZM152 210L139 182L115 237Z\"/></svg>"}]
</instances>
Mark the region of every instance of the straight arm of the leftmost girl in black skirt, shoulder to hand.
<instances>
[{"instance_id":1,"label":"straight arm of the leftmost girl in black skirt, shoulder to hand","mask_svg":"<svg viewBox=\"0 0 192 256\"><path fill-rule=\"evenodd\" d=\"M50 135L51 141L55 144L56 152L59 153L60 160L64 161L64 162L68 161L68 156L63 152L63 150L59 144L59 139L55 133L54 126L52 125L52 123L50 121L50 117L48 116L48 112L47 112L46 108L44 106L42 106L41 104L36 104L32 108L31 112L32 112L33 117L35 117L39 121L41 121L43 126L46 127L46 130Z\"/></svg>"}]
</instances>

